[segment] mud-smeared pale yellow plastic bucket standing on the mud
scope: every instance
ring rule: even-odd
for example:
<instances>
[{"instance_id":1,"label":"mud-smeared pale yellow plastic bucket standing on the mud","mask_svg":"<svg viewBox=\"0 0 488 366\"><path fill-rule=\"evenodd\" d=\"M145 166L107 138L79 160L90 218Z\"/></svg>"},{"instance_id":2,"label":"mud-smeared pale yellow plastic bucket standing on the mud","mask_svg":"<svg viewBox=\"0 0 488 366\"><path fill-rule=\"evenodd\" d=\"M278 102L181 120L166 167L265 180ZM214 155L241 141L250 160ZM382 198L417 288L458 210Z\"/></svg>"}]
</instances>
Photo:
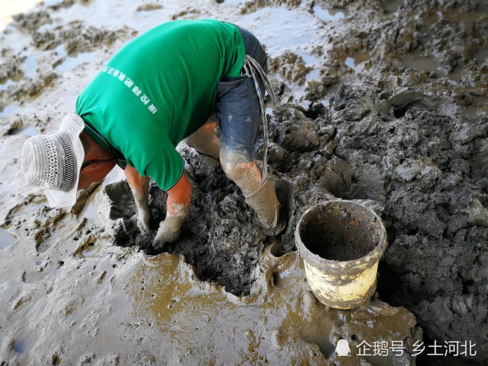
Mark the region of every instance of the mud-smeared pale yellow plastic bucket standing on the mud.
<instances>
[{"instance_id":1,"label":"mud-smeared pale yellow plastic bucket standing on the mud","mask_svg":"<svg viewBox=\"0 0 488 366\"><path fill-rule=\"evenodd\" d=\"M317 300L336 309L369 300L386 249L386 230L374 211L353 201L319 203L300 219L295 240Z\"/></svg>"}]
</instances>

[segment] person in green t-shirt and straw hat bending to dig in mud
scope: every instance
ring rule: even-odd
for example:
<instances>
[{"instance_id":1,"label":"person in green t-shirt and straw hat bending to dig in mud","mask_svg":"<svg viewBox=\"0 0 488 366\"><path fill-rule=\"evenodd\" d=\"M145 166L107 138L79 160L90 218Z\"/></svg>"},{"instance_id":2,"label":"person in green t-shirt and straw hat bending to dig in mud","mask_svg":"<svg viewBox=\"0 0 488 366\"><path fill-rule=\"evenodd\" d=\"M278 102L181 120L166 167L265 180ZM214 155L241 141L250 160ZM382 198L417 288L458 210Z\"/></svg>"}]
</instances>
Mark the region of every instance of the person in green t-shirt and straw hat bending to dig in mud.
<instances>
[{"instance_id":1,"label":"person in green t-shirt and straw hat bending to dig in mud","mask_svg":"<svg viewBox=\"0 0 488 366\"><path fill-rule=\"evenodd\" d=\"M267 58L248 31L218 20L177 20L125 45L81 92L76 113L59 132L28 139L22 166L51 206L69 207L78 189L101 181L115 165L134 194L138 226L149 230L149 177L168 192L166 218L153 246L175 241L190 208L191 185L175 150L187 138L200 153L220 158L264 228L279 226L275 189L266 179L264 89ZM206 123L216 112L217 122ZM263 172L256 164L261 122Z\"/></svg>"}]
</instances>

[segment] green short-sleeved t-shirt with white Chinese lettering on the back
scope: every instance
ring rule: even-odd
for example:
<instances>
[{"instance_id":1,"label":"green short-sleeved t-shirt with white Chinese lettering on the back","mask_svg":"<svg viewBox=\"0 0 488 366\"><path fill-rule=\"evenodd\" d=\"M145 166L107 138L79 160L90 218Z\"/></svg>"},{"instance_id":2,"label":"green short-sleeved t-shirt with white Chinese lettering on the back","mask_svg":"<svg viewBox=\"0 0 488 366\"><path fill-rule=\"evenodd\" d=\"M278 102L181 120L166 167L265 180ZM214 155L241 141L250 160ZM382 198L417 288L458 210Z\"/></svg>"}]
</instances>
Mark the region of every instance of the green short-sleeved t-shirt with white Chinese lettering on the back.
<instances>
[{"instance_id":1,"label":"green short-sleeved t-shirt with white Chinese lettering on the back","mask_svg":"<svg viewBox=\"0 0 488 366\"><path fill-rule=\"evenodd\" d=\"M231 23L170 21L125 45L81 92L76 113L168 190L183 174L176 145L206 122L218 81L240 76L244 57Z\"/></svg>"}]
</instances>

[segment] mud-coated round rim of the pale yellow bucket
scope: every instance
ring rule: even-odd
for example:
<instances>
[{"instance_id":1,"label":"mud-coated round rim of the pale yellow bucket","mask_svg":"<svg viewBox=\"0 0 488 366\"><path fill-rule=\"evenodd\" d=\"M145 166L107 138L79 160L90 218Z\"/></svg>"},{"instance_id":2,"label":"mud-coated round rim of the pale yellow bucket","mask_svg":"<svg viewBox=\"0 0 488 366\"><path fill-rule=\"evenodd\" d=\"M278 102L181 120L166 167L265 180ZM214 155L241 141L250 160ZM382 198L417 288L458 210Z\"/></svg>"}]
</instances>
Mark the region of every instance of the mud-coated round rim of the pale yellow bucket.
<instances>
[{"instance_id":1,"label":"mud-coated round rim of the pale yellow bucket","mask_svg":"<svg viewBox=\"0 0 488 366\"><path fill-rule=\"evenodd\" d=\"M336 261L333 259L325 259L322 258L321 256L314 254L308 249L305 244L302 241L302 238L300 237L300 225L302 224L304 217L307 213L310 211L313 211L314 209L317 209L321 206L326 206L328 204L333 204L333 203L351 203L355 204L358 206L361 206L362 208L368 210L371 212L374 217L376 218L377 222L381 225L381 237L378 241L378 244L375 245L373 250L371 250L369 253L364 255L363 257L356 258L350 261ZM342 200L342 199L335 199L335 200L329 200L329 201L323 201L320 203L317 203L313 205L312 207L308 208L304 214L300 217L300 220L298 220L298 223L295 227L295 243L297 245L298 252L300 256L304 259L304 261L308 264L312 264L313 266L316 267L324 267L327 266L328 268L331 269L337 269L337 270L342 270L342 269L360 269L360 268L365 268L368 267L374 263L377 263L380 258L383 256L383 253L385 252L386 249L386 229L385 226L383 225L383 221L381 220L380 216L374 212L371 208L365 206L362 203L357 203L351 200Z\"/></svg>"}]
</instances>

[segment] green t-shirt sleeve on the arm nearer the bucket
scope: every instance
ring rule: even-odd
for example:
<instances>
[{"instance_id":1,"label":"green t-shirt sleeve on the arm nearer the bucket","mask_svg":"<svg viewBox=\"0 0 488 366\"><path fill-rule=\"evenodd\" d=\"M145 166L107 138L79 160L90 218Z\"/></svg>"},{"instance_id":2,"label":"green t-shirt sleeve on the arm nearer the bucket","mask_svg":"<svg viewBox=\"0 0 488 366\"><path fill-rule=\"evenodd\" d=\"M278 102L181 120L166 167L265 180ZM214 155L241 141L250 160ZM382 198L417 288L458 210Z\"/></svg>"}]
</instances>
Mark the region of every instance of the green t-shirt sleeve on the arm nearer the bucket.
<instances>
[{"instance_id":1,"label":"green t-shirt sleeve on the arm nearer the bucket","mask_svg":"<svg viewBox=\"0 0 488 366\"><path fill-rule=\"evenodd\" d=\"M145 173L156 182L158 187L167 191L178 183L183 175L183 168L183 158L166 139L149 159Z\"/></svg>"}]
</instances>

